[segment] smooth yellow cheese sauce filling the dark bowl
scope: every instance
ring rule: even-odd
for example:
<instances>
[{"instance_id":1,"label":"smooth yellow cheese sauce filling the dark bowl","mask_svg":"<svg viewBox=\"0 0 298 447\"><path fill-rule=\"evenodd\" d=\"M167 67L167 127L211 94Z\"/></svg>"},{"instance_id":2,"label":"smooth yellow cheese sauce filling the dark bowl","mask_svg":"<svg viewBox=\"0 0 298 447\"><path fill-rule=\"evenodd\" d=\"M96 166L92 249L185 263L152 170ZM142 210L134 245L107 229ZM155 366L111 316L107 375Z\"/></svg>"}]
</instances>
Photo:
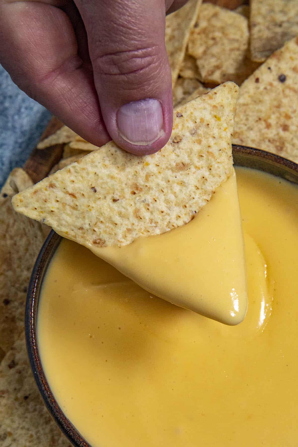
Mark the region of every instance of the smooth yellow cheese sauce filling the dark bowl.
<instances>
[{"instance_id":1,"label":"smooth yellow cheese sauce filling the dark bowl","mask_svg":"<svg viewBox=\"0 0 298 447\"><path fill-rule=\"evenodd\" d=\"M298 187L236 172L248 274L239 325L174 306L88 249L59 245L38 346L55 398L92 446L297 445Z\"/></svg>"}]
</instances>

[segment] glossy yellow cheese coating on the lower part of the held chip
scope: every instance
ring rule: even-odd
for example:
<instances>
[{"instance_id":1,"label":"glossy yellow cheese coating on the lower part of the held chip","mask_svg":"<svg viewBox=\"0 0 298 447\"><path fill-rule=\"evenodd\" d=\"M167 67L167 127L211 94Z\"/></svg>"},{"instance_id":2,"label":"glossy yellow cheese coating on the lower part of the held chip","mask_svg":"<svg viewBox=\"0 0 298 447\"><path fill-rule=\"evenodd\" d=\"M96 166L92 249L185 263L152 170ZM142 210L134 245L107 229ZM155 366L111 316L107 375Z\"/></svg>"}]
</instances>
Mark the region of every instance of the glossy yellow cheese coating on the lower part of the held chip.
<instances>
[{"instance_id":1,"label":"glossy yellow cheese coating on the lower part of the held chip","mask_svg":"<svg viewBox=\"0 0 298 447\"><path fill-rule=\"evenodd\" d=\"M151 294L227 325L247 310L247 278L235 171L183 227L92 251Z\"/></svg>"}]
</instances>

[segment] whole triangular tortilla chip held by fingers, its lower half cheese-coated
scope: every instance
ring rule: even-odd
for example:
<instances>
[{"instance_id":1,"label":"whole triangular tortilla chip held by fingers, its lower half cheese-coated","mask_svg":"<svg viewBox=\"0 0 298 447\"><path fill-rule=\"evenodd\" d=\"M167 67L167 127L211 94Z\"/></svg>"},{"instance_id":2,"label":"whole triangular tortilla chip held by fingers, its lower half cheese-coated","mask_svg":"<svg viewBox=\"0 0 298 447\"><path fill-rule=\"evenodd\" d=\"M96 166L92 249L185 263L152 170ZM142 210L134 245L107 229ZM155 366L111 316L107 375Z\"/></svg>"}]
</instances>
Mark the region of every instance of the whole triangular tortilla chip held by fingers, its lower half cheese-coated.
<instances>
[{"instance_id":1,"label":"whole triangular tortilla chip held by fingers, its lower half cheese-coated","mask_svg":"<svg viewBox=\"0 0 298 447\"><path fill-rule=\"evenodd\" d=\"M237 324L247 308L231 153L237 95L222 84L175 110L161 151L140 157L108 143L17 194L13 206L155 295Z\"/></svg>"}]
</instances>

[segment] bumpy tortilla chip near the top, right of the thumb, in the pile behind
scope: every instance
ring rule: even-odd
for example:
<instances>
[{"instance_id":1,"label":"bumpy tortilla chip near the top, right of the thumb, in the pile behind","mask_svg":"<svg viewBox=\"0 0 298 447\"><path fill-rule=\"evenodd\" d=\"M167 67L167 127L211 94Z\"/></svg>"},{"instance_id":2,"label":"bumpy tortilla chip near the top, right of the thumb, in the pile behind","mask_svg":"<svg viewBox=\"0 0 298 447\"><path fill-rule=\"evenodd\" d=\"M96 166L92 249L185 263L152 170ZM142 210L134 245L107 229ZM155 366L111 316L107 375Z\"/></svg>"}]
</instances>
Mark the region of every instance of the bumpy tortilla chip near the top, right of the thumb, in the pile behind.
<instances>
[{"instance_id":1,"label":"bumpy tortilla chip near the top, right of the thumb, in the pile behind","mask_svg":"<svg viewBox=\"0 0 298 447\"><path fill-rule=\"evenodd\" d=\"M230 79L248 48L248 20L228 9L202 4L189 37L188 52L197 59L200 80L221 83Z\"/></svg>"}]
</instances>

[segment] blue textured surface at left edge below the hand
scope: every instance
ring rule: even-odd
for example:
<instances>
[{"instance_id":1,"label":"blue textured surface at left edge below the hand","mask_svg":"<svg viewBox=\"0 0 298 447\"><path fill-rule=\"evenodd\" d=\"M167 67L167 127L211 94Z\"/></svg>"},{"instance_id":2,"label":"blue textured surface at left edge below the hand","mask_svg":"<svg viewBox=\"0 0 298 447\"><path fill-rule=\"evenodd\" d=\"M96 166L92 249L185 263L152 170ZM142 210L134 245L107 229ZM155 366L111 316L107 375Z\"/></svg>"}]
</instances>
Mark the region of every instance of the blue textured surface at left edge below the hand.
<instances>
[{"instance_id":1,"label":"blue textured surface at left edge below the hand","mask_svg":"<svg viewBox=\"0 0 298 447\"><path fill-rule=\"evenodd\" d=\"M10 171L28 159L50 116L18 89L0 65L0 188Z\"/></svg>"}]
</instances>

